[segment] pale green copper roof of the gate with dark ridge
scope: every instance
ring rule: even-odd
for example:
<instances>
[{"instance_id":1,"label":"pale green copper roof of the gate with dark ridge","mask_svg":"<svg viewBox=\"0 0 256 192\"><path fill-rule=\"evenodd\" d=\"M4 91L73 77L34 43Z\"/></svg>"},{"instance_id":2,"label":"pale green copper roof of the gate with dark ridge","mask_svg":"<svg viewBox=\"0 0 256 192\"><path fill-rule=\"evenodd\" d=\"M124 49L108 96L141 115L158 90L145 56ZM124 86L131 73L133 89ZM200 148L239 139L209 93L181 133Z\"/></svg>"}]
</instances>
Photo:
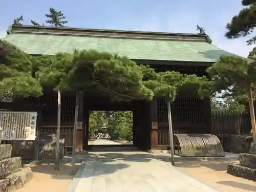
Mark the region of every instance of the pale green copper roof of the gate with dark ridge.
<instances>
[{"instance_id":1,"label":"pale green copper roof of the gate with dark ridge","mask_svg":"<svg viewBox=\"0 0 256 192\"><path fill-rule=\"evenodd\" d=\"M131 59L214 62L220 55L230 54L198 34L13 26L5 39L36 55L95 49Z\"/></svg>"}]
</instances>

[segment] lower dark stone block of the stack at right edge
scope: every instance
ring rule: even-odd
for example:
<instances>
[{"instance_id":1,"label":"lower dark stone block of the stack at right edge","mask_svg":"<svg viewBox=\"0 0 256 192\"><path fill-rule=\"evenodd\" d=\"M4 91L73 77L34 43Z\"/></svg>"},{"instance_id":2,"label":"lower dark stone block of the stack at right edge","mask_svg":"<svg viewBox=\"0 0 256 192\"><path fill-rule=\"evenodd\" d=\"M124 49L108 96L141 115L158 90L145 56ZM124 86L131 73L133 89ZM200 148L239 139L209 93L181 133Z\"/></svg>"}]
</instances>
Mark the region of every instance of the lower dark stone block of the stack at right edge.
<instances>
[{"instance_id":1,"label":"lower dark stone block of the stack at right edge","mask_svg":"<svg viewBox=\"0 0 256 192\"><path fill-rule=\"evenodd\" d=\"M227 173L236 177L242 177L244 179L256 181L256 169L245 167L239 164L228 164Z\"/></svg>"}]
</instances>

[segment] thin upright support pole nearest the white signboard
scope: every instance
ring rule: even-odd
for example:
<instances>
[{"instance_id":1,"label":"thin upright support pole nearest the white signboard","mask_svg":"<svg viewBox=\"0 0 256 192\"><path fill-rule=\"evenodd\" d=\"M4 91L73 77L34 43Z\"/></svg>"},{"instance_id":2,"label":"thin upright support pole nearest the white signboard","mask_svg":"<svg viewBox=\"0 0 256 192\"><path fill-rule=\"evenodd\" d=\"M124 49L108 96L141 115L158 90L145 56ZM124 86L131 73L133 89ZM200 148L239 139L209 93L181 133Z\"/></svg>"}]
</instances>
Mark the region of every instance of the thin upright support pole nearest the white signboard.
<instances>
[{"instance_id":1,"label":"thin upright support pole nearest the white signboard","mask_svg":"<svg viewBox=\"0 0 256 192\"><path fill-rule=\"evenodd\" d=\"M59 170L59 138L60 138L60 91L58 90L58 114L57 114L57 132L56 132L56 159L55 159L55 170Z\"/></svg>"}]
</instances>

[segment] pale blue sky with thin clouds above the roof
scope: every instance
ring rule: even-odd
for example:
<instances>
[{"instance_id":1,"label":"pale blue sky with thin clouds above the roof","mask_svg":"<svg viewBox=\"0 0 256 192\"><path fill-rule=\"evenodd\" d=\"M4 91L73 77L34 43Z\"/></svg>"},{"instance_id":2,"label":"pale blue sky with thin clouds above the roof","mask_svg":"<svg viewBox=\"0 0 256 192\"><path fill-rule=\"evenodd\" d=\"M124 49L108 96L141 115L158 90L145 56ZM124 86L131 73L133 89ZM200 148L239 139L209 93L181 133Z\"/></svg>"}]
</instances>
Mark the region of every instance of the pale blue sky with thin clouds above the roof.
<instances>
[{"instance_id":1,"label":"pale blue sky with thin clouds above the roof","mask_svg":"<svg viewBox=\"0 0 256 192\"><path fill-rule=\"evenodd\" d=\"M61 10L70 27L197 33L198 24L213 44L226 51L247 56L252 49L246 45L247 38L224 37L225 25L243 8L241 0L1 0L0 34L20 15L24 25L30 25L30 19L45 22L50 7Z\"/></svg>"}]
</instances>

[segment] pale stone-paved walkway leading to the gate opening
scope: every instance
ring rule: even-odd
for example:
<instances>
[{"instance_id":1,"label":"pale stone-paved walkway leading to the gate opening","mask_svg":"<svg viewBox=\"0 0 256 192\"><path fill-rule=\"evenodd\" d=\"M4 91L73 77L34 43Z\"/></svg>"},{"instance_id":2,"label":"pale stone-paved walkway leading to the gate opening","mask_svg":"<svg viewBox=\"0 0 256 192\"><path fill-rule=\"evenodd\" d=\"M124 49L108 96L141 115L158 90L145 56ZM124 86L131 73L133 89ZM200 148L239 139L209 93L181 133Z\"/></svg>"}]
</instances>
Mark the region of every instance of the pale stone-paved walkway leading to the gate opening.
<instances>
[{"instance_id":1,"label":"pale stone-paved walkway leading to the gate opening","mask_svg":"<svg viewBox=\"0 0 256 192\"><path fill-rule=\"evenodd\" d=\"M144 152L85 156L67 192L219 192Z\"/></svg>"}]
</instances>

